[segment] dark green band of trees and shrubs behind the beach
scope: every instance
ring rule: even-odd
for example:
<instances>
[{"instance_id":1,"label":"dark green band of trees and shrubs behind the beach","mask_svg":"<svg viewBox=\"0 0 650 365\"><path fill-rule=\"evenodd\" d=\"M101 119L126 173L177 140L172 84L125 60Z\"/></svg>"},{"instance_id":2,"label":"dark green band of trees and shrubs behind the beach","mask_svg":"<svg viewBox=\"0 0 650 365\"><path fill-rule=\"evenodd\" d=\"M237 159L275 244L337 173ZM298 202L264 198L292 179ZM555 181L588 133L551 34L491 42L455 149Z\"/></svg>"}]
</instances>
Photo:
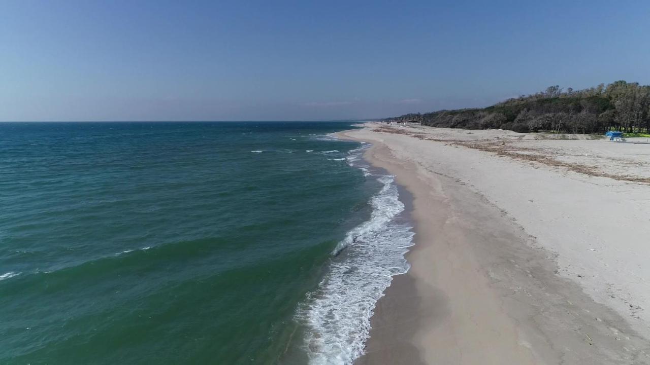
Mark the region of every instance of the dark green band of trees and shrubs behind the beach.
<instances>
[{"instance_id":1,"label":"dark green band of trees and shrubs behind the beach","mask_svg":"<svg viewBox=\"0 0 650 365\"><path fill-rule=\"evenodd\" d=\"M438 110L387 118L461 129L602 134L616 130L650 133L650 85L616 81L584 90L549 86L487 108Z\"/></svg>"}]
</instances>

